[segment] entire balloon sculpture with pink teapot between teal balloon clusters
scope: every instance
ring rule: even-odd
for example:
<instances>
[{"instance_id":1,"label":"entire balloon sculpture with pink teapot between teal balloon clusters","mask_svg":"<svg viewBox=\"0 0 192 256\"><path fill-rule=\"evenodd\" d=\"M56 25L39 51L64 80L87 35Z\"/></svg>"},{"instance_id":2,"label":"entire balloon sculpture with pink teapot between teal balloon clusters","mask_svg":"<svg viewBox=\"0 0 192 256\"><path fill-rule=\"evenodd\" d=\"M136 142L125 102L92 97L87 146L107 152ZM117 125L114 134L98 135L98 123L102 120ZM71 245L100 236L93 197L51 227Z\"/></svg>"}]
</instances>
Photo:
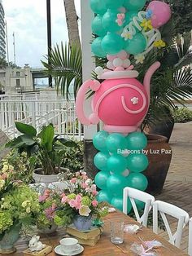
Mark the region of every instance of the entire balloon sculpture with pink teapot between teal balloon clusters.
<instances>
[{"instance_id":1,"label":"entire balloon sculpture with pink teapot between teal balloon clusters","mask_svg":"<svg viewBox=\"0 0 192 256\"><path fill-rule=\"evenodd\" d=\"M98 153L94 165L100 170L95 183L101 190L98 201L107 201L122 210L123 189L126 186L146 190L148 182L142 174L148 166L145 154L147 139L139 131L150 104L151 76L159 68L155 62L146 72L143 84L137 80L129 55L142 63L153 47L165 46L159 27L171 16L170 7L146 0L90 0L96 14L92 30L98 36L92 42L92 51L98 57L107 57L106 69L95 68L98 80L83 83L76 96L76 114L84 125L103 121L103 130L94 135ZM92 113L84 113L85 95L94 91ZM129 199L128 199L129 201ZM144 205L136 202L139 209ZM129 202L128 212L131 210Z\"/></svg>"}]
</instances>

